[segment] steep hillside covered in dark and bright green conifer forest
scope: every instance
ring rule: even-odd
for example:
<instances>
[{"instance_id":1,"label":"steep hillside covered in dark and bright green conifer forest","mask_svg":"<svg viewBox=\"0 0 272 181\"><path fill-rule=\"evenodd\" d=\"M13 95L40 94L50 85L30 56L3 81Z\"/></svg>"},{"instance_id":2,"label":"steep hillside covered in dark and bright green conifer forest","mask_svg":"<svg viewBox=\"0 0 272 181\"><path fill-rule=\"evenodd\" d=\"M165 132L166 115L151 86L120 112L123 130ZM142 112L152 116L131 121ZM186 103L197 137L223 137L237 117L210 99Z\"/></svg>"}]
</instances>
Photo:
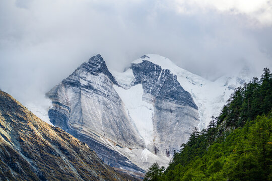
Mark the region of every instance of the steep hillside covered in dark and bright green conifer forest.
<instances>
[{"instance_id":1,"label":"steep hillside covered in dark and bright green conifer forest","mask_svg":"<svg viewBox=\"0 0 272 181\"><path fill-rule=\"evenodd\" d=\"M265 68L236 89L207 129L193 130L164 173L153 164L145 180L272 180L271 101Z\"/></svg>"}]
</instances>

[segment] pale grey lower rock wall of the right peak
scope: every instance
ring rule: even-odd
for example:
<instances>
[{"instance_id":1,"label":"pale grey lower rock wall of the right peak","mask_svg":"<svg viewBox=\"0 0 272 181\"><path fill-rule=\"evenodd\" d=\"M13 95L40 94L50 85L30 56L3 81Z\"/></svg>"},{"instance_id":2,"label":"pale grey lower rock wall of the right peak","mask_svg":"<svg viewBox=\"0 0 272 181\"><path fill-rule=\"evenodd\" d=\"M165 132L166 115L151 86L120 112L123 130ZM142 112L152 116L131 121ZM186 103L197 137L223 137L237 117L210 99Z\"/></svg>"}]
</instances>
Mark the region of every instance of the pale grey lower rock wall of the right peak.
<instances>
[{"instance_id":1,"label":"pale grey lower rock wall of the right peak","mask_svg":"<svg viewBox=\"0 0 272 181\"><path fill-rule=\"evenodd\" d=\"M154 147L156 154L170 156L187 142L199 123L199 114L190 106L157 100L154 110Z\"/></svg>"}]
</instances>

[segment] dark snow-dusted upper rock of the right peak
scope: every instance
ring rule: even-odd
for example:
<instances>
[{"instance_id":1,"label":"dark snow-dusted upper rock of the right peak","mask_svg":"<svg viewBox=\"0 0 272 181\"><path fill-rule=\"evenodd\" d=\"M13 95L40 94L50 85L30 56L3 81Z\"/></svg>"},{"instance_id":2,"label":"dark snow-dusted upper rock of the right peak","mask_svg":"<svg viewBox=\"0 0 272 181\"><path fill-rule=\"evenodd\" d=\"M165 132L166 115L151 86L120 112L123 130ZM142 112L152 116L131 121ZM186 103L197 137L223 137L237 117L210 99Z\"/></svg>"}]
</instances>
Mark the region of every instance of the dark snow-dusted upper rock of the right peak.
<instances>
[{"instance_id":1,"label":"dark snow-dusted upper rock of the right peak","mask_svg":"<svg viewBox=\"0 0 272 181\"><path fill-rule=\"evenodd\" d=\"M132 63L132 71L135 76L134 84L142 84L146 94L151 94L154 99L167 99L197 109L191 95L183 89L177 81L177 75L171 73L169 69L143 60L141 63ZM173 85L175 86L171 87Z\"/></svg>"}]
</instances>

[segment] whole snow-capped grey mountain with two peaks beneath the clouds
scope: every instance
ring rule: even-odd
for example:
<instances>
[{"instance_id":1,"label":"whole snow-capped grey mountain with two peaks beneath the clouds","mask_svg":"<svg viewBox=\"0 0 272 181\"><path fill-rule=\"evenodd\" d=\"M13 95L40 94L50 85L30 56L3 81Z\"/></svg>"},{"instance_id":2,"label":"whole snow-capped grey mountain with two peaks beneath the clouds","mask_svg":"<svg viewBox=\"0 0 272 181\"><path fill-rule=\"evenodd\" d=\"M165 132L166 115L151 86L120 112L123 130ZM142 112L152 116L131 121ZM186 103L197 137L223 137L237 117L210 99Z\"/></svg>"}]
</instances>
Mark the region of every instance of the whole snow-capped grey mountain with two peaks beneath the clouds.
<instances>
[{"instance_id":1,"label":"whole snow-capped grey mountain with two peaks beneath the clouds","mask_svg":"<svg viewBox=\"0 0 272 181\"><path fill-rule=\"evenodd\" d=\"M98 54L46 94L48 116L107 164L143 171L155 161L168 164L192 129L205 128L247 80L243 74L209 81L153 54L120 73Z\"/></svg>"}]
</instances>

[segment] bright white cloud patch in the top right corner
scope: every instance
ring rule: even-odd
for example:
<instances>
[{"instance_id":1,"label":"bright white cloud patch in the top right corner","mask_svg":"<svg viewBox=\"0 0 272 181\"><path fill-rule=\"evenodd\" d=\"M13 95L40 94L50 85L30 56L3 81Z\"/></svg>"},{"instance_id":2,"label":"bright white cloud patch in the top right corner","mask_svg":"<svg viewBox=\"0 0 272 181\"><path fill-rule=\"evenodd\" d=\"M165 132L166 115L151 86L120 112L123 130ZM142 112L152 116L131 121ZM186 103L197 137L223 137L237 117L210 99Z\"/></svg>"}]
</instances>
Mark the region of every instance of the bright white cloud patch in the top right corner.
<instances>
[{"instance_id":1,"label":"bright white cloud patch in the top right corner","mask_svg":"<svg viewBox=\"0 0 272 181\"><path fill-rule=\"evenodd\" d=\"M196 14L199 11L245 16L250 26L272 25L272 1L259 0L175 0L173 3L178 13Z\"/></svg>"}]
</instances>

